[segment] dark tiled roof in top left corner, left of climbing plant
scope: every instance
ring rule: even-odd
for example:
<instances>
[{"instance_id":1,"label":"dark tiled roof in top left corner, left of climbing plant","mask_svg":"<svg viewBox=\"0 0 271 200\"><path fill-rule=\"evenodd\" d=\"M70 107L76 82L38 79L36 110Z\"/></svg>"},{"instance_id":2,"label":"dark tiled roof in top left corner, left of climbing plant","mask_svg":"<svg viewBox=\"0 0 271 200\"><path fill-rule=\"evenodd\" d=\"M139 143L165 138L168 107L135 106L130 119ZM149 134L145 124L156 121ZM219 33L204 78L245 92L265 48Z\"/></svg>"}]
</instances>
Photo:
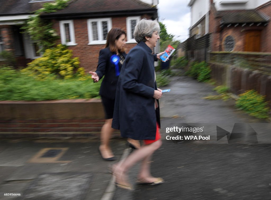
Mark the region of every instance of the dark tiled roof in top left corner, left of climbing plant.
<instances>
[{"instance_id":1,"label":"dark tiled roof in top left corner, left of climbing plant","mask_svg":"<svg viewBox=\"0 0 271 200\"><path fill-rule=\"evenodd\" d=\"M51 1L0 0L0 16L30 14Z\"/></svg>"}]
</instances>

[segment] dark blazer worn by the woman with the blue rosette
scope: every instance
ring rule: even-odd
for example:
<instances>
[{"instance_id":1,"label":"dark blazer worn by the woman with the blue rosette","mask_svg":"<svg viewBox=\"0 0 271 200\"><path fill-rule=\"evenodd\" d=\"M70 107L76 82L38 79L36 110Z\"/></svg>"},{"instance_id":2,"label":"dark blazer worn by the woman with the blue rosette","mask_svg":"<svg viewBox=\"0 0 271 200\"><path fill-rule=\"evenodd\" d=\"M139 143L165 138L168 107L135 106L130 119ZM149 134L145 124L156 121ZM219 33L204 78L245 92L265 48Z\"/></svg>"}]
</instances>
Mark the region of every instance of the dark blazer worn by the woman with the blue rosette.
<instances>
[{"instance_id":1,"label":"dark blazer worn by the woman with the blue rosette","mask_svg":"<svg viewBox=\"0 0 271 200\"><path fill-rule=\"evenodd\" d=\"M95 71L97 75L99 76L99 80L104 76L104 79L101 83L100 88L100 95L102 97L108 98L108 99L115 99L116 95L116 88L118 83L119 76L115 75L115 64L112 64L110 62L111 56L115 54L110 51L109 47L106 47L105 49L101 49L99 53L99 61L97 70ZM122 56L125 58L127 56L126 53L121 53ZM118 63L119 69L121 70L121 64Z\"/></svg>"}]
</instances>

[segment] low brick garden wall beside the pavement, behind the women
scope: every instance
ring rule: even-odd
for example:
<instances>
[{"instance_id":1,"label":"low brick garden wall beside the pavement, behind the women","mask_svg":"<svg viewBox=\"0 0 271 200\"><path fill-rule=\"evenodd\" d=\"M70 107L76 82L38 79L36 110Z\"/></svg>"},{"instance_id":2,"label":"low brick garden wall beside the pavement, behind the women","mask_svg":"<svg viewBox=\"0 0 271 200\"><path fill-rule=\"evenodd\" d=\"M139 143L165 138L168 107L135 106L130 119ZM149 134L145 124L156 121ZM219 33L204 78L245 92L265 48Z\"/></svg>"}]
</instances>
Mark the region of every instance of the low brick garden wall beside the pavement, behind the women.
<instances>
[{"instance_id":1,"label":"low brick garden wall beside the pavement, behind the women","mask_svg":"<svg viewBox=\"0 0 271 200\"><path fill-rule=\"evenodd\" d=\"M100 99L0 101L1 138L97 138L104 121Z\"/></svg>"}]
</instances>

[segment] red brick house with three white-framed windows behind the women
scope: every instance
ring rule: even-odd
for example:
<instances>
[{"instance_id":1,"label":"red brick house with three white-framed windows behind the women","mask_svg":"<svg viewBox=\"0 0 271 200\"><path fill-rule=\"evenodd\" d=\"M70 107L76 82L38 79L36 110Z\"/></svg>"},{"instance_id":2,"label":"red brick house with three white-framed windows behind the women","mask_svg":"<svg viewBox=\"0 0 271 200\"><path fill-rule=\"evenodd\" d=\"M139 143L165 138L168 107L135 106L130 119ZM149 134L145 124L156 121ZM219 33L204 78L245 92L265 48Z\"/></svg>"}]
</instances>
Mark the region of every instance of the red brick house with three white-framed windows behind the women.
<instances>
[{"instance_id":1,"label":"red brick house with three white-framed windows behind the women","mask_svg":"<svg viewBox=\"0 0 271 200\"><path fill-rule=\"evenodd\" d=\"M19 29L44 2L53 1L0 0L0 51L14 52L19 66L25 66L40 56L36 54L36 43L19 33ZM96 69L99 50L104 48L111 28L122 28L127 32L127 52L133 48L136 44L133 38L134 27L144 17L156 19L156 5L139 0L71 0L66 8L41 15L41 18L53 22L60 36L58 43L69 46L86 71Z\"/></svg>"}]
</instances>

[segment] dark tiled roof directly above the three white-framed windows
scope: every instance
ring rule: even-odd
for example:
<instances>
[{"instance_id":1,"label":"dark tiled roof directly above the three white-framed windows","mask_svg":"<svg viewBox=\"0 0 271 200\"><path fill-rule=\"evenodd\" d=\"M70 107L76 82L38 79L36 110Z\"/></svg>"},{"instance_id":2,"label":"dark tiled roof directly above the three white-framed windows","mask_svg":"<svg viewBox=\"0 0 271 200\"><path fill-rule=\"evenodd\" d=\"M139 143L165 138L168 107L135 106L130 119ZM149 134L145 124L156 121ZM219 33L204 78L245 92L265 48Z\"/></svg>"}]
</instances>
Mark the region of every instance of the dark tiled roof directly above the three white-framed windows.
<instances>
[{"instance_id":1,"label":"dark tiled roof directly above the three white-framed windows","mask_svg":"<svg viewBox=\"0 0 271 200\"><path fill-rule=\"evenodd\" d=\"M75 0L57 12L46 13L43 16L50 15L78 15L104 12L121 12L121 11L143 11L156 10L150 4L140 0Z\"/></svg>"}]
</instances>

